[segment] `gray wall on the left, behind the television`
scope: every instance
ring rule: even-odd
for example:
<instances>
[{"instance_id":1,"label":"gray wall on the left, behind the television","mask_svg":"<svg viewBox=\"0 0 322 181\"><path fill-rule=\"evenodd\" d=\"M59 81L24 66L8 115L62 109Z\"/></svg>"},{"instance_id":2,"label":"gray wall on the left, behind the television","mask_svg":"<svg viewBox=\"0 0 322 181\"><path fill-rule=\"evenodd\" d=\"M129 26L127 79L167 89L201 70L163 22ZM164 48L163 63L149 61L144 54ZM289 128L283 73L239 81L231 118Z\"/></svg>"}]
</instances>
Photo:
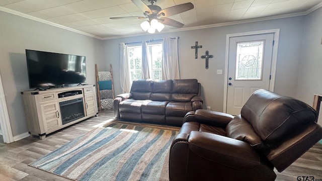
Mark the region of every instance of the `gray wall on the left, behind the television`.
<instances>
[{"instance_id":1,"label":"gray wall on the left, behind the television","mask_svg":"<svg viewBox=\"0 0 322 181\"><path fill-rule=\"evenodd\" d=\"M103 41L0 11L0 73L13 136L28 132L20 92L29 90L25 49L86 56L87 83L96 84Z\"/></svg>"}]
</instances>

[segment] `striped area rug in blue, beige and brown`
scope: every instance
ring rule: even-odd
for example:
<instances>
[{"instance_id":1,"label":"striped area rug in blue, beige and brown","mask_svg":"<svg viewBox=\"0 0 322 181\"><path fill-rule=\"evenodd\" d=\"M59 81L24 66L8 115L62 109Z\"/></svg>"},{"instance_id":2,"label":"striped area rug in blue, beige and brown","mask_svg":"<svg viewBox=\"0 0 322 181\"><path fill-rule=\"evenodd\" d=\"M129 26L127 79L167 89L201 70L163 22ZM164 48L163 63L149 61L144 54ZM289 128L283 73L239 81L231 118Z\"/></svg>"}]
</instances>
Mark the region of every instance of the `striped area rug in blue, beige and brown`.
<instances>
[{"instance_id":1,"label":"striped area rug in blue, beige and brown","mask_svg":"<svg viewBox=\"0 0 322 181\"><path fill-rule=\"evenodd\" d=\"M73 180L169 180L169 150L177 134L113 123L29 165Z\"/></svg>"}]
</instances>

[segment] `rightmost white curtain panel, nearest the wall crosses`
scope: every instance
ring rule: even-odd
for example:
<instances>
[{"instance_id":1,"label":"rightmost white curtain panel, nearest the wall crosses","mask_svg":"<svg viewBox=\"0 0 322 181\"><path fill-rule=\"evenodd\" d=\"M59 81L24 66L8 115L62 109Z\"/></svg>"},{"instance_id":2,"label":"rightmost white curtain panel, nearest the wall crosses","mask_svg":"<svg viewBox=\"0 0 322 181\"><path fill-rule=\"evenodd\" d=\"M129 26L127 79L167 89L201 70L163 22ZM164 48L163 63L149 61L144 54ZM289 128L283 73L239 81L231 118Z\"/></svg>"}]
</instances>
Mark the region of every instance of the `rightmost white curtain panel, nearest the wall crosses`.
<instances>
[{"instance_id":1,"label":"rightmost white curtain panel, nearest the wall crosses","mask_svg":"<svg viewBox=\"0 0 322 181\"><path fill-rule=\"evenodd\" d=\"M180 79L178 38L164 38L162 43L162 79Z\"/></svg>"}]
</instances>

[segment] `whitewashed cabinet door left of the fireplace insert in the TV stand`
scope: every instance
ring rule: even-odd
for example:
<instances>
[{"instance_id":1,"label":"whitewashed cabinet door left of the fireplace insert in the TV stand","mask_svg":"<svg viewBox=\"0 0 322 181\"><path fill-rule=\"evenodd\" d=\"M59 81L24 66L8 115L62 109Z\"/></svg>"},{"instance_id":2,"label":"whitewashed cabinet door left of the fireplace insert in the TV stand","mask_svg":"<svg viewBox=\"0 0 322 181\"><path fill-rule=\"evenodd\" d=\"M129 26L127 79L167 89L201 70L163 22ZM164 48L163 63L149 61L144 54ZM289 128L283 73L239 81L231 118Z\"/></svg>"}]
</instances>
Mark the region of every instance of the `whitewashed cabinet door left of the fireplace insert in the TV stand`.
<instances>
[{"instance_id":1,"label":"whitewashed cabinet door left of the fireplace insert in the TV stand","mask_svg":"<svg viewBox=\"0 0 322 181\"><path fill-rule=\"evenodd\" d=\"M53 132L61 126L58 102L51 102L41 105L41 112L44 121L46 133Z\"/></svg>"}]
</instances>

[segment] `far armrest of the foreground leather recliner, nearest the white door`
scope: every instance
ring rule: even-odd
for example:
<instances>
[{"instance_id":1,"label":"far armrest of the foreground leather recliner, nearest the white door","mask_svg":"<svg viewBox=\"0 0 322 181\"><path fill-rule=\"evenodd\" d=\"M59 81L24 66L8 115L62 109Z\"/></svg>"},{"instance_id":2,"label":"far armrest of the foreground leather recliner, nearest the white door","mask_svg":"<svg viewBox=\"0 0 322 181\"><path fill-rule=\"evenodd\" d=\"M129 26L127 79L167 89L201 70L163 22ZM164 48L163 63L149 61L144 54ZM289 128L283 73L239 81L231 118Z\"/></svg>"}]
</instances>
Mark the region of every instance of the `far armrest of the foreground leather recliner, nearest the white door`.
<instances>
[{"instance_id":1,"label":"far armrest of the foreground leather recliner, nearest the white door","mask_svg":"<svg viewBox=\"0 0 322 181\"><path fill-rule=\"evenodd\" d=\"M225 128L233 118L230 114L199 109L195 112L188 112L184 118L184 122L196 121L200 124Z\"/></svg>"}]
</instances>

